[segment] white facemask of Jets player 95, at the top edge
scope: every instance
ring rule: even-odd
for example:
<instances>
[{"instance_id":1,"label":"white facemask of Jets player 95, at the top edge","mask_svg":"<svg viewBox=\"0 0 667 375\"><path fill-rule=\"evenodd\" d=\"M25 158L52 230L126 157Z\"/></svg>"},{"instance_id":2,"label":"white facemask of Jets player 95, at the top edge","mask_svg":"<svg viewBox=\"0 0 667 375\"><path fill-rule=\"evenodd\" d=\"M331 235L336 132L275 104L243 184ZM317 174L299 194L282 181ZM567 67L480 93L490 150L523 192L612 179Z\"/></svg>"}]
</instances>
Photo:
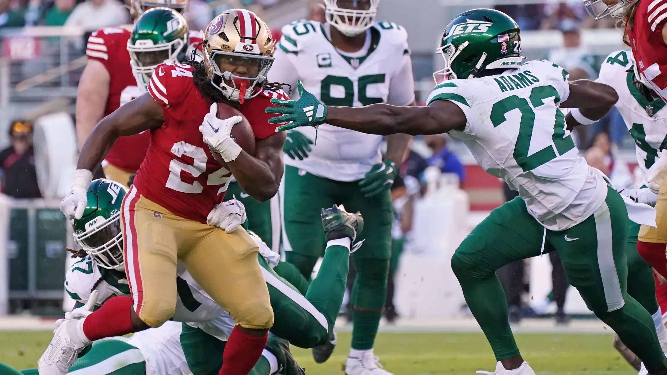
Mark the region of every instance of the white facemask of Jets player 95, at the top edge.
<instances>
[{"instance_id":1,"label":"white facemask of Jets player 95, at the top edge","mask_svg":"<svg viewBox=\"0 0 667 375\"><path fill-rule=\"evenodd\" d=\"M348 37L354 37L366 31L373 25L378 15L378 4L380 0L368 0L362 3L368 5L368 9L349 9L340 7L348 5L357 7L362 0L324 0L324 17L327 23L336 27L338 31Z\"/></svg>"}]
</instances>

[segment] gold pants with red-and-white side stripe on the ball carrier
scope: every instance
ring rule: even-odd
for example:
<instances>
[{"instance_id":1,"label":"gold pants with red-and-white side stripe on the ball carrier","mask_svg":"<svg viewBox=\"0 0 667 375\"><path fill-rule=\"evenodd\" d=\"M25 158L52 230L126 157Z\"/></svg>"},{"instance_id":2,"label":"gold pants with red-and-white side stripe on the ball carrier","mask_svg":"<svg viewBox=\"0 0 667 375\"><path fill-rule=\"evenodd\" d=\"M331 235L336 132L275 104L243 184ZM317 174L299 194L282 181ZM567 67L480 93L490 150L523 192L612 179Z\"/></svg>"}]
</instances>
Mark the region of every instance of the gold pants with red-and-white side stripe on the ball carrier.
<instances>
[{"instance_id":1,"label":"gold pants with red-and-white side stripe on the ball carrier","mask_svg":"<svg viewBox=\"0 0 667 375\"><path fill-rule=\"evenodd\" d=\"M176 266L181 260L197 283L236 324L270 328L273 310L257 262L257 244L243 230L232 234L187 220L131 187L121 212L125 271L135 312L157 327L176 306Z\"/></svg>"}]
</instances>

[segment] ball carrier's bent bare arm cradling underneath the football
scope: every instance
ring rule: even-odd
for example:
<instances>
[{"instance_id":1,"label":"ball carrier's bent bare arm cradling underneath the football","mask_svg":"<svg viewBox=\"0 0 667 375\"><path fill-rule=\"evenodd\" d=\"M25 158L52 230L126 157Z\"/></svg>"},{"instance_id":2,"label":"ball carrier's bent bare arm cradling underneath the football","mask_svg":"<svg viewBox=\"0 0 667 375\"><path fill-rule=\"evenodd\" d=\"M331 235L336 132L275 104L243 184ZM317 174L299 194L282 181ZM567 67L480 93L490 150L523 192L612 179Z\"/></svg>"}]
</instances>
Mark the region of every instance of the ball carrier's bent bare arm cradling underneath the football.
<instances>
[{"instance_id":1,"label":"ball carrier's bent bare arm cradling underneath the football","mask_svg":"<svg viewBox=\"0 0 667 375\"><path fill-rule=\"evenodd\" d=\"M255 156L241 151L227 166L241 189L259 202L270 200L278 192L283 176L284 131L255 143Z\"/></svg>"}]
</instances>

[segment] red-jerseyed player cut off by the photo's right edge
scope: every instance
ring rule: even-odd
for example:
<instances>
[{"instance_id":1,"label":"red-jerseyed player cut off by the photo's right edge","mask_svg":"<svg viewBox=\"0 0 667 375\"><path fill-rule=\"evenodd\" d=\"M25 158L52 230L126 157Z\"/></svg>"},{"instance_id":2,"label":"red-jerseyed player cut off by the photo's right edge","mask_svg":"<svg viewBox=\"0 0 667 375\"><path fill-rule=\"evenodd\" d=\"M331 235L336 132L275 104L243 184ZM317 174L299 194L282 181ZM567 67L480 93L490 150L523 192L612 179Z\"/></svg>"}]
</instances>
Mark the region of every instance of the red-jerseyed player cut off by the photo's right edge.
<instances>
[{"instance_id":1,"label":"red-jerseyed player cut off by the photo's right edge","mask_svg":"<svg viewBox=\"0 0 667 375\"><path fill-rule=\"evenodd\" d=\"M667 0L584 0L584 4L594 19L609 15L622 19L623 41L632 48L632 55L637 62L634 65L635 75L642 83L652 87L662 99L666 99L667 27L664 26L667 23ZM655 168L667 165L664 160L662 163L658 161L656 159ZM654 171L654 175L663 173ZM637 250L656 272L667 278L667 179L662 185L654 183L648 187L658 194L655 206L658 226L642 226Z\"/></svg>"}]
</instances>

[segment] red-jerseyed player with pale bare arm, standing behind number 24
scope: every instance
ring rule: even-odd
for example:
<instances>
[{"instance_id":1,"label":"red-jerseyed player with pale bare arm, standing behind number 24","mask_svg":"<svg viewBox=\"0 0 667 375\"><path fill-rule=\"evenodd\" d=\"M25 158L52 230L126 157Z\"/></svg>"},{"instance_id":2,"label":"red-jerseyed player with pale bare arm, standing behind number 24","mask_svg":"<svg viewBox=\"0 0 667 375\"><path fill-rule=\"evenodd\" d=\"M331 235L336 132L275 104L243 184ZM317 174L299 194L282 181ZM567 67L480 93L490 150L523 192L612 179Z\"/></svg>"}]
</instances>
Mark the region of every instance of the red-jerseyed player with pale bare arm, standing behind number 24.
<instances>
[{"instance_id":1,"label":"red-jerseyed player with pale bare arm, standing behind number 24","mask_svg":"<svg viewBox=\"0 0 667 375\"><path fill-rule=\"evenodd\" d=\"M131 1L131 13L134 19L138 19L151 8L169 7L181 12L186 6L187 0L133 0ZM147 83L146 74L152 72L150 65L155 68L157 63L165 62L165 60L176 61L175 57L180 54L185 55L191 45L194 46L201 42L202 37L199 31L189 32L183 17L174 18L179 21L172 21L171 29L163 30L162 35L151 35L145 38L151 43L136 43L136 30L135 32L130 31L132 28L129 25L105 27L91 33L86 45L88 62L81 73L77 92L76 128L79 150L83 148L83 143L102 117L145 93L145 85L142 83ZM147 21L145 19L143 22L147 24L149 23ZM160 21L165 23L169 20L161 19ZM183 29L185 33L182 32ZM165 31L167 32L164 33ZM164 41L169 43L166 47L171 52L166 55L163 53L165 46L157 45ZM136 47L128 53L128 45L136 45ZM142 47L149 47L149 53L142 54ZM152 60L153 63L145 65L145 62L150 62L144 60L145 57ZM164 58L159 61L155 60L162 57ZM119 139L109 149L102 163L107 178L127 185L129 176L137 173L146 155L150 137L150 133L145 131Z\"/></svg>"}]
</instances>

